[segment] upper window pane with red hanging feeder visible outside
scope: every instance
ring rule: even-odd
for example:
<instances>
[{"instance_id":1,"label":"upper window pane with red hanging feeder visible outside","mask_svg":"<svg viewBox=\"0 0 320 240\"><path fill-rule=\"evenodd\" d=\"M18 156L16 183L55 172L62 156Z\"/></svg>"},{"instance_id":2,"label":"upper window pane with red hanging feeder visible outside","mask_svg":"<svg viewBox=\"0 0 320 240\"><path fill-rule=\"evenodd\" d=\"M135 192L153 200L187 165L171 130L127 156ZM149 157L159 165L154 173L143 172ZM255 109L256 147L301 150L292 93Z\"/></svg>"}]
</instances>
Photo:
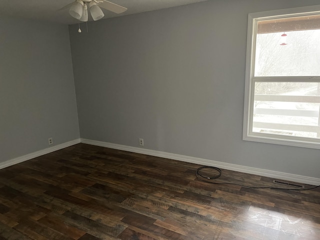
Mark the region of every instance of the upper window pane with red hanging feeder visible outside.
<instances>
[{"instance_id":1,"label":"upper window pane with red hanging feeder visible outside","mask_svg":"<svg viewBox=\"0 0 320 240\"><path fill-rule=\"evenodd\" d=\"M320 75L319 28L320 15L258 21L254 75Z\"/></svg>"}]
</instances>

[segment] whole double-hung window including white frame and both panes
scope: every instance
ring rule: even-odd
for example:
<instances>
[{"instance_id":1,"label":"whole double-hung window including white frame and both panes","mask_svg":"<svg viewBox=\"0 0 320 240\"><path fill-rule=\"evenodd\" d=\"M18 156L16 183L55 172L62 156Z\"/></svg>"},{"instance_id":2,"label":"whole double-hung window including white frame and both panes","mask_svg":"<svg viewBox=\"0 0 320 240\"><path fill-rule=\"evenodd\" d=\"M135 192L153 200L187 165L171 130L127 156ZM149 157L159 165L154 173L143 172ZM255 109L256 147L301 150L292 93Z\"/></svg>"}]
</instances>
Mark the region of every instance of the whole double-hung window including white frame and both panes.
<instances>
[{"instance_id":1,"label":"whole double-hung window including white frame and both panes","mask_svg":"<svg viewBox=\"0 0 320 240\"><path fill-rule=\"evenodd\" d=\"M320 5L248 16L243 139L320 149Z\"/></svg>"}]
</instances>

